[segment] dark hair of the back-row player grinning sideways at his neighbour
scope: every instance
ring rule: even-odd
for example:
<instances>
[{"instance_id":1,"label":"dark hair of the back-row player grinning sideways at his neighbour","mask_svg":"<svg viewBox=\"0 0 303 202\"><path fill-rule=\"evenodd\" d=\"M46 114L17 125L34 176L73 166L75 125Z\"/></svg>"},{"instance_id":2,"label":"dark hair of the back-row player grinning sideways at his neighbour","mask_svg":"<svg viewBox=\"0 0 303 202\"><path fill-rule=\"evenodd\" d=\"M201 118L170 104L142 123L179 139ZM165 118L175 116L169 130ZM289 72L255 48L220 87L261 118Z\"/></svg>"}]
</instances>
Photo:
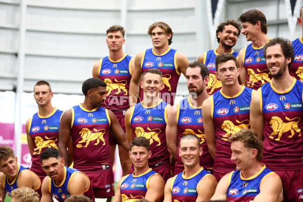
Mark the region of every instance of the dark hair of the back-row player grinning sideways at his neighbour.
<instances>
[{"instance_id":1,"label":"dark hair of the back-row player grinning sideways at his neighbour","mask_svg":"<svg viewBox=\"0 0 303 202\"><path fill-rule=\"evenodd\" d=\"M267 34L267 21L264 13L259 11L258 9L251 9L246 11L238 17L238 21L240 22L249 22L252 25L255 25L258 21L261 22L261 30L263 33Z\"/></svg>"}]
</instances>

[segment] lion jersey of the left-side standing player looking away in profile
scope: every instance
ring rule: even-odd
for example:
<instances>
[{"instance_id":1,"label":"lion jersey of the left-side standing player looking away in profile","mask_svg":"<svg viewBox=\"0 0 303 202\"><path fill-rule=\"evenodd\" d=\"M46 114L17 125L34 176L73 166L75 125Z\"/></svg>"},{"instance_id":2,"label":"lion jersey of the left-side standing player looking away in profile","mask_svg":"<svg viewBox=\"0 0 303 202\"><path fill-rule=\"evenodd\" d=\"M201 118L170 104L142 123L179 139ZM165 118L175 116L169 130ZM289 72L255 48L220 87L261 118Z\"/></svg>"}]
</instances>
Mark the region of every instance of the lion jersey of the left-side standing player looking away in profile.
<instances>
[{"instance_id":1,"label":"lion jersey of the left-side standing player looking away in profile","mask_svg":"<svg viewBox=\"0 0 303 202\"><path fill-rule=\"evenodd\" d=\"M81 105L71 109L74 168L84 173L112 172L108 110L88 111Z\"/></svg>"}]
</instances>

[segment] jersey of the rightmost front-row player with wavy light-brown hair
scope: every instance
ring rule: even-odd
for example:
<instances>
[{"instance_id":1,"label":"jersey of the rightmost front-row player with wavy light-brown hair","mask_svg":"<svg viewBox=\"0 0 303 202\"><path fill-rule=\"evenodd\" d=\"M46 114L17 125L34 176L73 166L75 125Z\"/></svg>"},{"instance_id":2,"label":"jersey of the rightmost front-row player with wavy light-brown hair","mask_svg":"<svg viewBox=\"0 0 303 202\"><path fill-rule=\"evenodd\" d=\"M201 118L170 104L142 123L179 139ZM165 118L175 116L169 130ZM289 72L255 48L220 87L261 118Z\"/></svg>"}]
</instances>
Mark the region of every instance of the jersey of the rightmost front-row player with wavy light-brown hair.
<instances>
[{"instance_id":1,"label":"jersey of the rightmost front-row player with wavy light-brown hair","mask_svg":"<svg viewBox=\"0 0 303 202\"><path fill-rule=\"evenodd\" d=\"M229 174L226 199L235 202L248 202L254 200L260 193L262 180L274 172L263 166L255 175L243 178L241 171L236 170Z\"/></svg>"}]
</instances>

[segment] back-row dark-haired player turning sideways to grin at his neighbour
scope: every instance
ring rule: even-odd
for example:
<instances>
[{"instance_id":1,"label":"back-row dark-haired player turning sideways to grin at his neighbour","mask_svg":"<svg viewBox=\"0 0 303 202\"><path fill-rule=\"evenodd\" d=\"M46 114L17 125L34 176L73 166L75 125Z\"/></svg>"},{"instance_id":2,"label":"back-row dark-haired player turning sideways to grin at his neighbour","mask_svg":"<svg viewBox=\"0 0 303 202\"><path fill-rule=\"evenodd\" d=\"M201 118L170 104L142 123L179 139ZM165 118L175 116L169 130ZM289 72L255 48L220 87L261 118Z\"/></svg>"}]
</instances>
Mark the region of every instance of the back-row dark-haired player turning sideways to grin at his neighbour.
<instances>
[{"instance_id":1,"label":"back-row dark-haired player turning sideways to grin at his neighbour","mask_svg":"<svg viewBox=\"0 0 303 202\"><path fill-rule=\"evenodd\" d=\"M240 81L244 86L257 90L271 78L262 56L264 44L270 40L266 17L261 11L251 9L241 14L238 21L242 25L241 33L252 42L239 52Z\"/></svg>"}]
</instances>

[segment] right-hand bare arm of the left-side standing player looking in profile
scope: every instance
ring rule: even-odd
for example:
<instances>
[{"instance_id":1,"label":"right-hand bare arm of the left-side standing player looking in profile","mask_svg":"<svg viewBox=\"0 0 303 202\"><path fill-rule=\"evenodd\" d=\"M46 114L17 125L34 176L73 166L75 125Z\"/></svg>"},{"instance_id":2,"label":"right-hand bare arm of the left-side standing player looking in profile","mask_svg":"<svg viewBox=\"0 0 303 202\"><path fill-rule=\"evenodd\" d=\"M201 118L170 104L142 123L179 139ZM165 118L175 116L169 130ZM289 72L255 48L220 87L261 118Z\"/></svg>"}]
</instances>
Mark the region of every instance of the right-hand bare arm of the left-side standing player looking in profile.
<instances>
[{"instance_id":1,"label":"right-hand bare arm of the left-side standing player looking in profile","mask_svg":"<svg viewBox=\"0 0 303 202\"><path fill-rule=\"evenodd\" d=\"M108 110L110 119L111 119L111 126L110 126L110 130L112 132L112 134L116 137L116 139L118 140L118 142L120 143L120 145L122 145L125 149L125 152L128 152L129 150L129 143L127 141L126 138L126 134L123 131L117 117L114 115L114 113L110 110Z\"/></svg>"}]
</instances>

